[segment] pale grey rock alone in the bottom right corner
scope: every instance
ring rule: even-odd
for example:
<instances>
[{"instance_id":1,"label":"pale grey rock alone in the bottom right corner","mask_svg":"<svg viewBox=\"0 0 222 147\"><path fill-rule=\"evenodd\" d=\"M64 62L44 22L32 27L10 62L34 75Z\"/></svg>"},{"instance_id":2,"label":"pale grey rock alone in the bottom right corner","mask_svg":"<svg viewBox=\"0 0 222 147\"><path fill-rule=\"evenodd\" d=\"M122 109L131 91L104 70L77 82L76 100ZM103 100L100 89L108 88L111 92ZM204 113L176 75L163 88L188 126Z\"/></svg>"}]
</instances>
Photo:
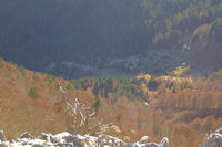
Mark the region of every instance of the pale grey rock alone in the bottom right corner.
<instances>
[{"instance_id":1,"label":"pale grey rock alone in the bottom right corner","mask_svg":"<svg viewBox=\"0 0 222 147\"><path fill-rule=\"evenodd\" d=\"M222 147L222 128L206 137L201 147Z\"/></svg>"}]
</instances>

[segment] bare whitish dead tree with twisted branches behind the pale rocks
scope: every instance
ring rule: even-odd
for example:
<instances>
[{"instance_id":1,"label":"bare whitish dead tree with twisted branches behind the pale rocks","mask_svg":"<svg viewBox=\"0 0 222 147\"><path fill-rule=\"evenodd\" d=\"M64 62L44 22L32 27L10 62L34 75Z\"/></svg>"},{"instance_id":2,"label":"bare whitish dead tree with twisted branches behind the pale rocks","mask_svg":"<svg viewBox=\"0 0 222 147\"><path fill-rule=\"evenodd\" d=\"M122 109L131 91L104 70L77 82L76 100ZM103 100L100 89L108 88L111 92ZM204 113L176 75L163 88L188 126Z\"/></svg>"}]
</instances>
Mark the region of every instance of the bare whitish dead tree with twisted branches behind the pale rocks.
<instances>
[{"instance_id":1,"label":"bare whitish dead tree with twisted branches behind the pale rocks","mask_svg":"<svg viewBox=\"0 0 222 147\"><path fill-rule=\"evenodd\" d=\"M91 107L88 107L84 104L80 103L78 98L75 98L73 103L69 103L68 93L63 91L61 86L59 91L63 95L62 101L67 113L65 123L71 133L87 133L93 135L98 129L108 127L113 124L104 124L108 117L99 120L95 117L97 112ZM70 118L74 118L74 122L71 122Z\"/></svg>"}]
</instances>

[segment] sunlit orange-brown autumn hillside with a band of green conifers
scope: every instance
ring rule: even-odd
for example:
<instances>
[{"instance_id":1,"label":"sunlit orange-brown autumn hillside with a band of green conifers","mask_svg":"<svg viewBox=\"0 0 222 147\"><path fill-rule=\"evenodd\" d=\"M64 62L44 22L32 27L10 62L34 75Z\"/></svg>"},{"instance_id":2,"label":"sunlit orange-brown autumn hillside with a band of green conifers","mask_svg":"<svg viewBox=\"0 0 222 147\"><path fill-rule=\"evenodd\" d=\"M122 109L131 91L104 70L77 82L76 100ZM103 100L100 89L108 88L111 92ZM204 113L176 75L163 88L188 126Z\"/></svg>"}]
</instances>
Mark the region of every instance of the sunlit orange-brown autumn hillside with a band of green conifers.
<instances>
[{"instance_id":1,"label":"sunlit orange-brown autumn hillside with a band of green conifers","mask_svg":"<svg viewBox=\"0 0 222 147\"><path fill-rule=\"evenodd\" d=\"M209 77L138 75L65 81L0 60L0 127L8 139L24 130L34 136L67 130L107 134L130 143L144 135L157 143L168 137L171 147L198 147L222 126L222 71ZM77 98L80 106L91 107L82 114L95 112L94 117L78 126L80 117L68 113L64 93L70 105L75 106ZM97 123L111 125L99 128Z\"/></svg>"}]
</instances>

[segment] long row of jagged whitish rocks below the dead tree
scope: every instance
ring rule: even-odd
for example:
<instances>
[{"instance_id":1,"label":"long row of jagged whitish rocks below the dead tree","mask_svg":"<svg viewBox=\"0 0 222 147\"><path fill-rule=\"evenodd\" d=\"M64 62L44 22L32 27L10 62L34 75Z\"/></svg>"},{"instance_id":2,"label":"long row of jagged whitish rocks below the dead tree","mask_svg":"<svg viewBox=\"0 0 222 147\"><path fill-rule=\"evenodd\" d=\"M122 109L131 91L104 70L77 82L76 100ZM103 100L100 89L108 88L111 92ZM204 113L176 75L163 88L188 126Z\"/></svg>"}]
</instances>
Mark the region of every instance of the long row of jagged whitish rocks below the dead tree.
<instances>
[{"instance_id":1,"label":"long row of jagged whitish rocks below the dead tree","mask_svg":"<svg viewBox=\"0 0 222 147\"><path fill-rule=\"evenodd\" d=\"M26 132L17 140L6 140L3 132L0 132L0 147L169 147L168 138L163 138L160 144L148 143L149 136L143 136L140 141L124 143L123 140L109 136L100 135L99 137L89 135L72 135L67 132L57 135L42 133L39 137L33 138Z\"/></svg>"}]
</instances>

